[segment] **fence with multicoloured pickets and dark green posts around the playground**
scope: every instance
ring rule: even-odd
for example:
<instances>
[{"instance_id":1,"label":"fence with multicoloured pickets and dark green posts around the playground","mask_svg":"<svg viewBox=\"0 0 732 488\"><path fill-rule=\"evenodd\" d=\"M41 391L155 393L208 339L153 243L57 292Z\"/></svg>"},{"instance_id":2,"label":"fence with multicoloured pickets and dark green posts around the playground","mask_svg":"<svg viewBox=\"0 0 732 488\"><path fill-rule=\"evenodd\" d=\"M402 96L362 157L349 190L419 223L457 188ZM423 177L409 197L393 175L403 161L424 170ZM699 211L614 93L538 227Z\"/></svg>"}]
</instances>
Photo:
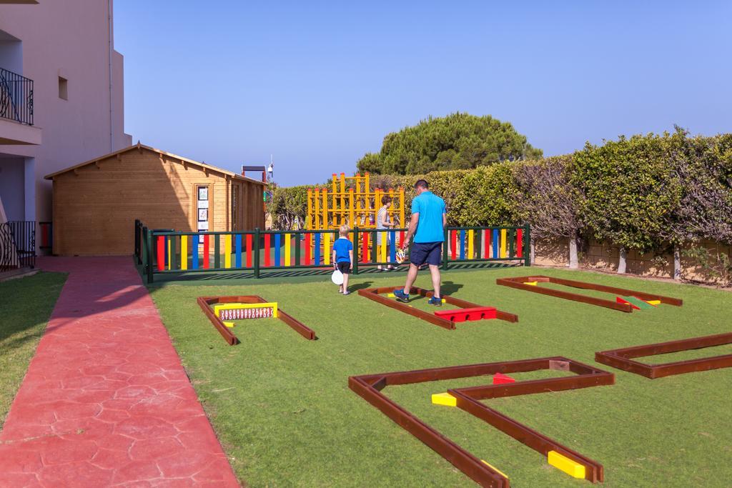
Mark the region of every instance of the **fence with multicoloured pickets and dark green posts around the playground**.
<instances>
[{"instance_id":1,"label":"fence with multicoloured pickets and dark green posts around the playground","mask_svg":"<svg viewBox=\"0 0 732 488\"><path fill-rule=\"evenodd\" d=\"M354 273L376 265L396 263L406 229L351 230ZM332 267L335 230L250 230L236 232L176 232L150 230L135 221L135 258L148 282L155 274L198 271L261 271ZM451 263L515 261L530 265L529 226L447 228L444 269Z\"/></svg>"}]
</instances>

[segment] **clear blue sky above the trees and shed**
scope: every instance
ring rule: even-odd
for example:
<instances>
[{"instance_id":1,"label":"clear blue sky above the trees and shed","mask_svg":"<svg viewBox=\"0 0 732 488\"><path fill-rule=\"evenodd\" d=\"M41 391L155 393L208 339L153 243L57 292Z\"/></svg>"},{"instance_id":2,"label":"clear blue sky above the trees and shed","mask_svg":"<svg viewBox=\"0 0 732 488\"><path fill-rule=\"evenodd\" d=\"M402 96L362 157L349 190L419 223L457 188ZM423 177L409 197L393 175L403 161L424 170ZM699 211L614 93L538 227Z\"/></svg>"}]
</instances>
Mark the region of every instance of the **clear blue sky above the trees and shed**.
<instances>
[{"instance_id":1,"label":"clear blue sky above the trees and shed","mask_svg":"<svg viewBox=\"0 0 732 488\"><path fill-rule=\"evenodd\" d=\"M285 186L457 110L546 155L732 131L730 1L115 2L135 142Z\"/></svg>"}]
</instances>

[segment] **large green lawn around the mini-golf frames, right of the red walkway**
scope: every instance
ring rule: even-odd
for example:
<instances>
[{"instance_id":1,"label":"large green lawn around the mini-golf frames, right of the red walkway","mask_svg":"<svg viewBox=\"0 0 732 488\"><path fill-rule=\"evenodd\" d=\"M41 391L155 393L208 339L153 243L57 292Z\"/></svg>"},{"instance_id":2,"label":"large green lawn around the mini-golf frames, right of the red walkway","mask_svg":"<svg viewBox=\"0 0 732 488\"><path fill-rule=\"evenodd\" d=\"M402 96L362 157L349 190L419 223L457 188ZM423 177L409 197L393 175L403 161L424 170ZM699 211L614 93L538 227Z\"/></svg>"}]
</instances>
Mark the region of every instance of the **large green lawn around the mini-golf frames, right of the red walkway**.
<instances>
[{"instance_id":1,"label":"large green lawn around the mini-golf frames, right of the red walkway","mask_svg":"<svg viewBox=\"0 0 732 488\"><path fill-rule=\"evenodd\" d=\"M626 314L496 285L498 277L531 273L676 296L684 306ZM403 277L359 275L351 284L400 285ZM602 463L608 487L728 486L732 369L649 380L596 364L594 353L731 331L732 293L550 269L447 271L443 281L444 293L516 313L519 322L460 323L448 331L355 293L340 296L328 277L188 282L150 290L237 475L253 487L474 486L349 390L348 376L559 355L615 373L616 385L488 404ZM428 275L417 285L430 288ZM277 320L250 320L236 326L242 344L226 345L195 298L234 294L279 302L314 329L318 340L307 341ZM706 353L730 350L720 346ZM656 356L649 362L706 353ZM546 373L515 376L540 375ZM472 378L384 391L507 473L513 486L589 486L468 413L430 403L430 394L449 387L488 382Z\"/></svg>"}]
</instances>

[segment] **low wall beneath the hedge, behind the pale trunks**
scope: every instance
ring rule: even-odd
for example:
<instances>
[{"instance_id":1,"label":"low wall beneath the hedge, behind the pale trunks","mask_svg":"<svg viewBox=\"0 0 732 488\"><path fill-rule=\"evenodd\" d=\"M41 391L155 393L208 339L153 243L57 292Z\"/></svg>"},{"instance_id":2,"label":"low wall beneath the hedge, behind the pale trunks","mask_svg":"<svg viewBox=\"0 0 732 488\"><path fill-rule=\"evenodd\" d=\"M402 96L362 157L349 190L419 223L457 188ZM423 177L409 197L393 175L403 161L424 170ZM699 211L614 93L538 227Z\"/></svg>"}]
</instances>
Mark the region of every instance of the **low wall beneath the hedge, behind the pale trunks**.
<instances>
[{"instance_id":1,"label":"low wall beneath the hedge, behind the pale trunks","mask_svg":"<svg viewBox=\"0 0 732 488\"><path fill-rule=\"evenodd\" d=\"M713 253L726 254L732 258L732 247L713 241L702 241L700 246ZM620 248L591 240L580 247L580 267L602 271L617 271ZM538 266L569 266L568 241L534 241L534 264ZM657 255L653 252L643 254L629 250L626 257L627 273L644 277L673 278L673 255ZM712 277L690 258L681 255L681 270L684 279L701 282L714 282Z\"/></svg>"}]
</instances>

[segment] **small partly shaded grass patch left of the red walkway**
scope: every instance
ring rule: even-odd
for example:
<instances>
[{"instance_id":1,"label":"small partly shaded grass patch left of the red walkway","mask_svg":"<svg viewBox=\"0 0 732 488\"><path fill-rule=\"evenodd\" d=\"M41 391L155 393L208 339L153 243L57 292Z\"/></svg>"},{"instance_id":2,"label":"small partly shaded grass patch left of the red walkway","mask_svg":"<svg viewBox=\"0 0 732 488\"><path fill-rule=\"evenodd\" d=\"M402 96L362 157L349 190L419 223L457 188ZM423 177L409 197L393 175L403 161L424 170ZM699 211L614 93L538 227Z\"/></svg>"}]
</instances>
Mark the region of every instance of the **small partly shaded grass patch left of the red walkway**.
<instances>
[{"instance_id":1,"label":"small partly shaded grass patch left of the red walkway","mask_svg":"<svg viewBox=\"0 0 732 488\"><path fill-rule=\"evenodd\" d=\"M66 276L40 272L0 283L0 429Z\"/></svg>"}]
</instances>

